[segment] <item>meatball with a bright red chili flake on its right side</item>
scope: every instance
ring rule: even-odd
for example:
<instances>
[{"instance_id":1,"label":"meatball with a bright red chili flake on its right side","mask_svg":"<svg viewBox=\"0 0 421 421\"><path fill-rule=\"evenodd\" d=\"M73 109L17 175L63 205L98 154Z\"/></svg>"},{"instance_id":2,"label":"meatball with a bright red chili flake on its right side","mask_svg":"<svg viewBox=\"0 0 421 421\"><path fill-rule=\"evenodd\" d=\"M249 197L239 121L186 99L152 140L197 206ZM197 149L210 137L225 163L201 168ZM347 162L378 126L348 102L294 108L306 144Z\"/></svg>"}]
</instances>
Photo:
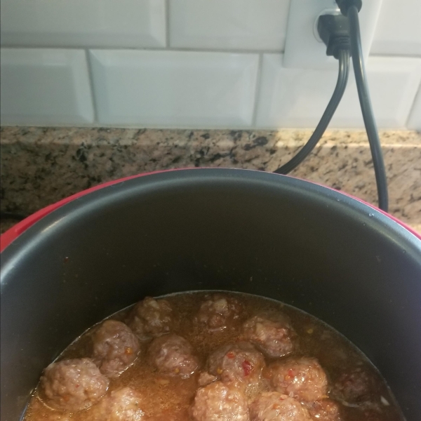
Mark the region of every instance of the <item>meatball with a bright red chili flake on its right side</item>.
<instances>
[{"instance_id":1,"label":"meatball with a bright red chili flake on its right side","mask_svg":"<svg viewBox=\"0 0 421 421\"><path fill-rule=\"evenodd\" d=\"M209 373L222 382L258 382L264 366L264 356L248 342L224 345L208 358Z\"/></svg>"}]
</instances>

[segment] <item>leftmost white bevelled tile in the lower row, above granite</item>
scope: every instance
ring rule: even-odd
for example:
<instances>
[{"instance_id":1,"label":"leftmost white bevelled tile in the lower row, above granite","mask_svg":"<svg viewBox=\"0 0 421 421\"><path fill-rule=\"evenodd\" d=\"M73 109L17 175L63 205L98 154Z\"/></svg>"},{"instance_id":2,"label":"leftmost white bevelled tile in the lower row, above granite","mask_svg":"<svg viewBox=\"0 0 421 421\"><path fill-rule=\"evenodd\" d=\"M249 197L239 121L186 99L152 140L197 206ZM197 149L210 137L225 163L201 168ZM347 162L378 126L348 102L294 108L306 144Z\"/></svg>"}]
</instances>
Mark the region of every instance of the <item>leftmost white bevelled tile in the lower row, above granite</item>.
<instances>
[{"instance_id":1,"label":"leftmost white bevelled tile in the lower row, above granite","mask_svg":"<svg viewBox=\"0 0 421 421\"><path fill-rule=\"evenodd\" d=\"M1 124L60 126L93 119L85 51L1 48Z\"/></svg>"}]
</instances>

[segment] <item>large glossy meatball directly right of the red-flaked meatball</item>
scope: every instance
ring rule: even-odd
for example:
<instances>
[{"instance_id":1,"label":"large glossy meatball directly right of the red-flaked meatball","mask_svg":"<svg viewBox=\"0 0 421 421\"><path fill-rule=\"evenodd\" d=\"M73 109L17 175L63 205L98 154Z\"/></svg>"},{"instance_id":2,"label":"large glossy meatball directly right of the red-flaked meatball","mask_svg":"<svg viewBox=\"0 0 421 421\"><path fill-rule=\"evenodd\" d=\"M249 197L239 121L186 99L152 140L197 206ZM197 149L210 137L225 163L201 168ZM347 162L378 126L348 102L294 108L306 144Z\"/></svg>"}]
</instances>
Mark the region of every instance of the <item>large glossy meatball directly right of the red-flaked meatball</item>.
<instances>
[{"instance_id":1,"label":"large glossy meatball directly right of the red-flaked meatball","mask_svg":"<svg viewBox=\"0 0 421 421\"><path fill-rule=\"evenodd\" d=\"M271 367L272 385L277 392L298 401L317 401L326 398L328 379L314 358L290 358Z\"/></svg>"}]
</instances>

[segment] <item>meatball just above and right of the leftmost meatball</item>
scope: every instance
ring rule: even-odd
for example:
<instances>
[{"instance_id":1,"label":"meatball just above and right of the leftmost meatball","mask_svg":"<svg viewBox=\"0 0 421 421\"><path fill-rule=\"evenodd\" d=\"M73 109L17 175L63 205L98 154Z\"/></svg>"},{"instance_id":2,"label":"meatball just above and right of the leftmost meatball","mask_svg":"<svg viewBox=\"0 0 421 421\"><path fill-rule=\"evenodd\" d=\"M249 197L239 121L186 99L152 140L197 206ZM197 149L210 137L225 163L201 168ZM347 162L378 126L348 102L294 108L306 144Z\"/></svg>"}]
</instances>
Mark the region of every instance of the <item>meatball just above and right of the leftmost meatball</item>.
<instances>
[{"instance_id":1,"label":"meatball just above and right of the leftmost meatball","mask_svg":"<svg viewBox=\"0 0 421 421\"><path fill-rule=\"evenodd\" d=\"M92 359L107 377L119 377L135 361L139 340L121 321L106 320L93 332Z\"/></svg>"}]
</instances>

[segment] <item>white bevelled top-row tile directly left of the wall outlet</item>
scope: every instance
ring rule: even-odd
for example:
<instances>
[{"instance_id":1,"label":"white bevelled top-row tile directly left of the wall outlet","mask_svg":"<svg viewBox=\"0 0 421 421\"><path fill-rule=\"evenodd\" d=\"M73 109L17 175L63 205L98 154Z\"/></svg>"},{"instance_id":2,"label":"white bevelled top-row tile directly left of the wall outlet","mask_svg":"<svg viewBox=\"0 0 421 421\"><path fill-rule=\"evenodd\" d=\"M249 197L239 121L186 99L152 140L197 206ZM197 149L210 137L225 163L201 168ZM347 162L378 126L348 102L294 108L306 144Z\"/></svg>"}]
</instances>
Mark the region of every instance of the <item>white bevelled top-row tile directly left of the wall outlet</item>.
<instances>
[{"instance_id":1,"label":"white bevelled top-row tile directly left of the wall outlet","mask_svg":"<svg viewBox=\"0 0 421 421\"><path fill-rule=\"evenodd\" d=\"M170 0L170 44L282 51L290 0Z\"/></svg>"}]
</instances>

